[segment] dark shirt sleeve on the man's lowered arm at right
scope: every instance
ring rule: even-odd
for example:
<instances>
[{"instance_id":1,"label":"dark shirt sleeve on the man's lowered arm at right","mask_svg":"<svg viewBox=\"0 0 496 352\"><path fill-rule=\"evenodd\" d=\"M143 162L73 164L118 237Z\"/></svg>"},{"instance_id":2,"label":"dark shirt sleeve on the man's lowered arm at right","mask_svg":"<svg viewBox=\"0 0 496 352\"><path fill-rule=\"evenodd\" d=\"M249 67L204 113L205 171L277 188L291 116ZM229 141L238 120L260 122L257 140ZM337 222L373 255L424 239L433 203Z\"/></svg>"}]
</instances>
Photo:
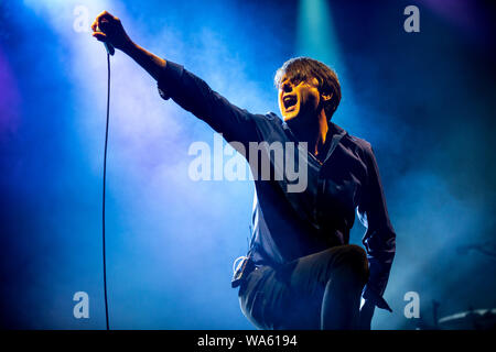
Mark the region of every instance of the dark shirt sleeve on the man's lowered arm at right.
<instances>
[{"instance_id":1,"label":"dark shirt sleeve on the man's lowered arm at right","mask_svg":"<svg viewBox=\"0 0 496 352\"><path fill-rule=\"evenodd\" d=\"M367 251L370 276L363 297L373 300L379 308L391 310L382 295L395 257L396 233L389 220L379 168L370 145L365 148L365 163L367 182L357 212L362 223L367 228L362 242Z\"/></svg>"}]
</instances>

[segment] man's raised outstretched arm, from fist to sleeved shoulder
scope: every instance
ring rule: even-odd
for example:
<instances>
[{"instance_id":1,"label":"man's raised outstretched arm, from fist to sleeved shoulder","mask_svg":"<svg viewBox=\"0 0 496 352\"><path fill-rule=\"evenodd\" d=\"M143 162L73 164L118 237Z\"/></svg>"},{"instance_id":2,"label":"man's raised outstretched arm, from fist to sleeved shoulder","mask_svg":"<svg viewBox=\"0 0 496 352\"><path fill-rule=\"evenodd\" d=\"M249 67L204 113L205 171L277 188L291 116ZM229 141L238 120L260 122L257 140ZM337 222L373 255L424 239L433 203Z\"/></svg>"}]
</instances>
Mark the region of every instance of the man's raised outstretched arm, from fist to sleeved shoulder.
<instances>
[{"instance_id":1,"label":"man's raised outstretched arm, from fist to sleeved shoulder","mask_svg":"<svg viewBox=\"0 0 496 352\"><path fill-rule=\"evenodd\" d=\"M120 20L107 11L96 18L91 29L98 41L112 44L143 67L158 81L162 98L172 98L216 132L223 133L228 142L247 144L258 141L257 124L265 120L263 116L236 107L183 66L166 62L134 44Z\"/></svg>"}]
</instances>

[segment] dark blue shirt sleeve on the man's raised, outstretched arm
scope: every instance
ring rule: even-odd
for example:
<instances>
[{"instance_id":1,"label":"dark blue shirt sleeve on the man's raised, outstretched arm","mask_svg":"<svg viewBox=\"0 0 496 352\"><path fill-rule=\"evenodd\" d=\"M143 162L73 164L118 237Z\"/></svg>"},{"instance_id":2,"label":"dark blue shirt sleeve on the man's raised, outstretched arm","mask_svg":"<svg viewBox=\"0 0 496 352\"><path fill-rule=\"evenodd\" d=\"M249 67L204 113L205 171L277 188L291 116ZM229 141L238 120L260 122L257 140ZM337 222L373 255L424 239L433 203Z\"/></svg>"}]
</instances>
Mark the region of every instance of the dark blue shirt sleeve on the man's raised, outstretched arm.
<instances>
[{"instance_id":1,"label":"dark blue shirt sleeve on the man's raised, outstretched arm","mask_svg":"<svg viewBox=\"0 0 496 352\"><path fill-rule=\"evenodd\" d=\"M172 98L183 109L222 133L228 142L247 144L259 140L256 127L262 116L230 103L183 66L168 61L159 77L158 88L163 99Z\"/></svg>"}]
</instances>

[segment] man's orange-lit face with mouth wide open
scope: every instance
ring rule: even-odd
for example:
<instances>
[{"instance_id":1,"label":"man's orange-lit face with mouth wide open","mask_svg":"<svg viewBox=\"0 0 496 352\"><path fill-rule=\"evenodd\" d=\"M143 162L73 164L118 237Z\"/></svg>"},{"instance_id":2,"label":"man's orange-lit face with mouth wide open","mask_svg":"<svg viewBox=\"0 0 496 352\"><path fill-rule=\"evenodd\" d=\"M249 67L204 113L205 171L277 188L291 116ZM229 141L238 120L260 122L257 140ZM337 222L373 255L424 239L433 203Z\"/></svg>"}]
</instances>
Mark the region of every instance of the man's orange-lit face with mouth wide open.
<instances>
[{"instance_id":1,"label":"man's orange-lit face with mouth wide open","mask_svg":"<svg viewBox=\"0 0 496 352\"><path fill-rule=\"evenodd\" d=\"M279 87L279 109L284 121L317 116L321 99L317 87L316 78L292 82L285 76L282 77Z\"/></svg>"}]
</instances>

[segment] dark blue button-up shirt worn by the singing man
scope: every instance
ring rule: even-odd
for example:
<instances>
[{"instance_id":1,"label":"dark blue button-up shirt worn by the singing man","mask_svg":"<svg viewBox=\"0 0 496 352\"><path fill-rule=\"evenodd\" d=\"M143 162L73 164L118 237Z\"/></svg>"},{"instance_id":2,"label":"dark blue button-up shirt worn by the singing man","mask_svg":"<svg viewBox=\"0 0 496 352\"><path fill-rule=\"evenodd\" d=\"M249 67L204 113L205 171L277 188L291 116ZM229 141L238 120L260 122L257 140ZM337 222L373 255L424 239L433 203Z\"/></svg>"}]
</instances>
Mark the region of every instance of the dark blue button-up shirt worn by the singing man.
<instances>
[{"instance_id":1,"label":"dark blue button-up shirt worn by the singing man","mask_svg":"<svg viewBox=\"0 0 496 352\"><path fill-rule=\"evenodd\" d=\"M293 152L294 163L308 170L302 191L289 191L291 182L287 177L259 177L257 167L250 164L256 197L249 255L256 264L278 266L347 244L356 211L367 228L363 243L370 270L363 297L390 309L382 294L395 256L396 234L368 142L330 122L327 153L321 162L300 146L301 142L277 114L255 114L236 107L177 64L166 63L158 86L162 98L172 98L222 133L227 142L244 145L248 160L250 142L280 142L283 147L292 142L298 146ZM273 155L267 155L272 168L276 167Z\"/></svg>"}]
</instances>

